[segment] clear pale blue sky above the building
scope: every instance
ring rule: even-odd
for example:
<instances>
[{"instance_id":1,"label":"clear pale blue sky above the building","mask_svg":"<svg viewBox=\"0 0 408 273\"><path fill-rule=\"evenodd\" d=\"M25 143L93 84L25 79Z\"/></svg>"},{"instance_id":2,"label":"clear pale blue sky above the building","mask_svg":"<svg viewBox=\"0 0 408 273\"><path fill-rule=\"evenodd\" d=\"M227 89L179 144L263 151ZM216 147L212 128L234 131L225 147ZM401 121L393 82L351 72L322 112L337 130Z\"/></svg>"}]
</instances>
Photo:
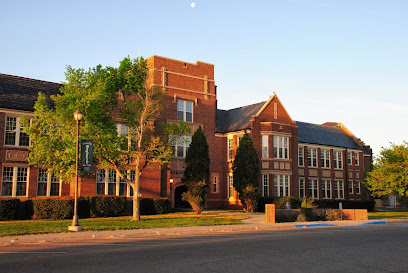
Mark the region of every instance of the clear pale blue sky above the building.
<instances>
[{"instance_id":1,"label":"clear pale blue sky above the building","mask_svg":"<svg viewBox=\"0 0 408 273\"><path fill-rule=\"evenodd\" d=\"M406 0L0 0L0 73L199 60L220 109L275 92L293 120L341 122L378 155L408 141L407 14Z\"/></svg>"}]
</instances>

